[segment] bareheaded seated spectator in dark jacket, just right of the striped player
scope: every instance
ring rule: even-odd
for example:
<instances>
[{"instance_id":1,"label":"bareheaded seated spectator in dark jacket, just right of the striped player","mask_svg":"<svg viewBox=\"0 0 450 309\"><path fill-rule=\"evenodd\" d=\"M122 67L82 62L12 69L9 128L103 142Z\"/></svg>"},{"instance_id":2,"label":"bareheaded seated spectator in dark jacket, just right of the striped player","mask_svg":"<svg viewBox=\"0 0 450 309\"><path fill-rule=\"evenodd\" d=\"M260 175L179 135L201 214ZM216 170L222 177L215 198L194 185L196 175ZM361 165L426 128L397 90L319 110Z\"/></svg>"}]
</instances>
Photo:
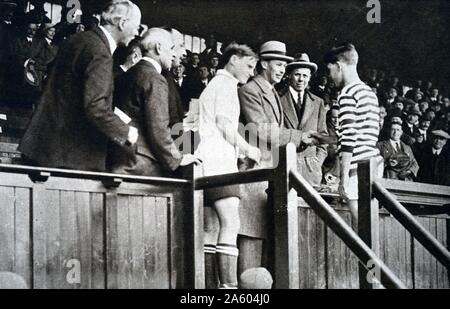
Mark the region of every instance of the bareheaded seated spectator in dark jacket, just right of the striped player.
<instances>
[{"instance_id":1,"label":"bareheaded seated spectator in dark jacket, just right of the striped player","mask_svg":"<svg viewBox=\"0 0 450 309\"><path fill-rule=\"evenodd\" d=\"M413 181L419 171L419 165L412 149L400 140L402 134L402 124L392 122L389 140L377 144L384 159L384 177Z\"/></svg>"}]
</instances>

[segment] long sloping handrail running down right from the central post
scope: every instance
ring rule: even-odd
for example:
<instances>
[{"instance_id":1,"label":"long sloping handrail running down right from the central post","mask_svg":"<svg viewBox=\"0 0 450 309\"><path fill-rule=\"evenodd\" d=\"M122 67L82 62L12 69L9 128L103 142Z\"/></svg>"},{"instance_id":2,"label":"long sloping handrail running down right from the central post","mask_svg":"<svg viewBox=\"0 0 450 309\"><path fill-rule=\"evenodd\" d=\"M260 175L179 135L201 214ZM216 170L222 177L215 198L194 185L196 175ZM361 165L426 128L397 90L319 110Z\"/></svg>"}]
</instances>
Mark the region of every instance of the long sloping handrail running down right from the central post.
<instances>
[{"instance_id":1,"label":"long sloping handrail running down right from the central post","mask_svg":"<svg viewBox=\"0 0 450 309\"><path fill-rule=\"evenodd\" d=\"M368 271L373 271L373 269L369 269L368 267L369 261L378 267L381 284L386 288L406 289L403 282L297 171L290 171L290 182L299 196L303 198L323 222L342 239Z\"/></svg>"}]
</instances>

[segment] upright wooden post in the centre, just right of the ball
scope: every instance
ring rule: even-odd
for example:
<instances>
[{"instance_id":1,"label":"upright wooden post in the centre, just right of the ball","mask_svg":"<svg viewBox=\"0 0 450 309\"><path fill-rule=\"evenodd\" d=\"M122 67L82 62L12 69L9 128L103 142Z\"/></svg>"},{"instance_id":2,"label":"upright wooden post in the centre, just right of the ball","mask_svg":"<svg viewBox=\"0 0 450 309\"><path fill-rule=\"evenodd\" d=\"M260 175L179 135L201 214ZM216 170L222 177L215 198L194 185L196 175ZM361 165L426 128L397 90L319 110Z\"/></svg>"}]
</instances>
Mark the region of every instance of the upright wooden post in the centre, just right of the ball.
<instances>
[{"instance_id":1,"label":"upright wooden post in the centre, just right of the ball","mask_svg":"<svg viewBox=\"0 0 450 309\"><path fill-rule=\"evenodd\" d=\"M297 192L289 186L290 170L297 170L295 146L279 149L278 166L271 181L274 212L274 252L276 289L299 288Z\"/></svg>"}]
</instances>

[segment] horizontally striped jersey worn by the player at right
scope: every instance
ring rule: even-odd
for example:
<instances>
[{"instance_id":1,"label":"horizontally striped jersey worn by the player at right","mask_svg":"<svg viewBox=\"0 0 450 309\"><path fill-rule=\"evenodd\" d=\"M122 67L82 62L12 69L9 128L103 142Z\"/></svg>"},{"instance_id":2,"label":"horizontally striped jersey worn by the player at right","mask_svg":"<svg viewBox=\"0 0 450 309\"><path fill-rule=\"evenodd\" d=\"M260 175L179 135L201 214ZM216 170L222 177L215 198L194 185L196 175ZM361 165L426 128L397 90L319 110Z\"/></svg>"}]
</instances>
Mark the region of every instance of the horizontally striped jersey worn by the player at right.
<instances>
[{"instance_id":1,"label":"horizontally striped jersey worn by the player at right","mask_svg":"<svg viewBox=\"0 0 450 309\"><path fill-rule=\"evenodd\" d=\"M338 151L353 154L350 175L356 173L359 160L379 154L376 146L380 132L378 98L363 82L345 86L338 98Z\"/></svg>"}]
</instances>

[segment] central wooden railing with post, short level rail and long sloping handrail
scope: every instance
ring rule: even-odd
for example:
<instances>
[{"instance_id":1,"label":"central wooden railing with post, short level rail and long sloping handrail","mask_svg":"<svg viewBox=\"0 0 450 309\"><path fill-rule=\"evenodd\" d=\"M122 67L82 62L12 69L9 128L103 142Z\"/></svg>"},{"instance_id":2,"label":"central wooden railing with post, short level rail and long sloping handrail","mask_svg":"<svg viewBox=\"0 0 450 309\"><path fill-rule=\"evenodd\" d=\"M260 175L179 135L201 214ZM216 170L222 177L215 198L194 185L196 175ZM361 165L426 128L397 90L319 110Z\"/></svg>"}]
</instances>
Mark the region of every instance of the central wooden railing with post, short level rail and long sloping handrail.
<instances>
[{"instance_id":1,"label":"central wooden railing with post, short level rail and long sloping handrail","mask_svg":"<svg viewBox=\"0 0 450 309\"><path fill-rule=\"evenodd\" d=\"M297 172L294 145L281 148L279 164L274 169L252 170L243 173L203 177L195 181L197 190L222 185L269 182L269 199L273 207L274 281L276 288L299 288L299 220L298 198L302 197L315 213L334 231L366 268L380 270L381 283L388 288L405 285L389 270L363 240L323 200ZM371 266L368 262L373 262Z\"/></svg>"}]
</instances>

